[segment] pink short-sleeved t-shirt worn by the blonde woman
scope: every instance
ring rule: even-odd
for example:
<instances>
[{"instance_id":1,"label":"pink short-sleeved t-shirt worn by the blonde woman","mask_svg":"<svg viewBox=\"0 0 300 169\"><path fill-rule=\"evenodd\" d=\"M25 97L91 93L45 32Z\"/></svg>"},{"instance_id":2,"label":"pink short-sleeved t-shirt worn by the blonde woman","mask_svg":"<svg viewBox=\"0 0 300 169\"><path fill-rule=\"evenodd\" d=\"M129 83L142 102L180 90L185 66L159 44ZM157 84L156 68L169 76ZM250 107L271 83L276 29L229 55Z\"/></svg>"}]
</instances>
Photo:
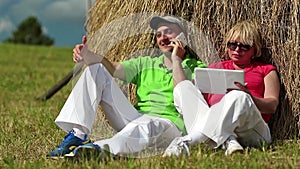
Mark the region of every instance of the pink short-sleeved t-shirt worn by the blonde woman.
<instances>
[{"instance_id":1,"label":"pink short-sleeved t-shirt worn by the blonde woman","mask_svg":"<svg viewBox=\"0 0 300 169\"><path fill-rule=\"evenodd\" d=\"M213 63L209 65L209 68L234 70L232 60ZM269 74L272 70L276 70L276 67L261 62L252 62L249 66L244 68L245 83L247 83L247 88L249 89L249 91L253 96L258 98L264 97L264 91L265 91L264 77L267 74ZM223 96L224 94L207 94L206 101L210 106L212 106L218 103ZM271 115L262 114L262 117L265 120L265 122L268 123L271 118Z\"/></svg>"}]
</instances>

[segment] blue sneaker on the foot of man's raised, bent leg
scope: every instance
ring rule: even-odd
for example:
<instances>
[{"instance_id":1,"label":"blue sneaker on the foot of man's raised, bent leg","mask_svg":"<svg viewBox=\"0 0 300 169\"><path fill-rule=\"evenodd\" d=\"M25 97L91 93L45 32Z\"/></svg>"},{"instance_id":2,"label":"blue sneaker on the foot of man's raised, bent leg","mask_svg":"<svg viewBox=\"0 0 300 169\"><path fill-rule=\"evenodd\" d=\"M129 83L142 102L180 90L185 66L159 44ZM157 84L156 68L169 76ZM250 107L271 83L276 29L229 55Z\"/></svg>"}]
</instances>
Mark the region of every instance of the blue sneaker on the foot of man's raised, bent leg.
<instances>
[{"instance_id":1,"label":"blue sneaker on the foot of man's raised, bent leg","mask_svg":"<svg viewBox=\"0 0 300 169\"><path fill-rule=\"evenodd\" d=\"M57 149L51 151L46 157L58 159L63 158L65 154L72 152L76 147L90 143L91 140L87 139L87 136L82 140L74 135L74 131L71 130L64 138L63 142L57 147Z\"/></svg>"}]
</instances>

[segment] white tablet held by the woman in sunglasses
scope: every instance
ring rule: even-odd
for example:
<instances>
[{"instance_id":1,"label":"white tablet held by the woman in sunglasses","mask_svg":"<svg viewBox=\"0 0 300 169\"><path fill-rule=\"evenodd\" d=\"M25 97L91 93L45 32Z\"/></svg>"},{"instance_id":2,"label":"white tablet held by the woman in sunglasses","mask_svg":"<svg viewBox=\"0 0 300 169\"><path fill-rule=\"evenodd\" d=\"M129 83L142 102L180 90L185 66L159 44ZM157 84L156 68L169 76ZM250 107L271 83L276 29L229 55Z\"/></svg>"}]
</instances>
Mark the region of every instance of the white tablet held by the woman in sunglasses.
<instances>
[{"instance_id":1,"label":"white tablet held by the woman in sunglasses","mask_svg":"<svg viewBox=\"0 0 300 169\"><path fill-rule=\"evenodd\" d=\"M234 82L244 84L243 70L195 68L195 85L202 93L225 94L238 89Z\"/></svg>"}]
</instances>

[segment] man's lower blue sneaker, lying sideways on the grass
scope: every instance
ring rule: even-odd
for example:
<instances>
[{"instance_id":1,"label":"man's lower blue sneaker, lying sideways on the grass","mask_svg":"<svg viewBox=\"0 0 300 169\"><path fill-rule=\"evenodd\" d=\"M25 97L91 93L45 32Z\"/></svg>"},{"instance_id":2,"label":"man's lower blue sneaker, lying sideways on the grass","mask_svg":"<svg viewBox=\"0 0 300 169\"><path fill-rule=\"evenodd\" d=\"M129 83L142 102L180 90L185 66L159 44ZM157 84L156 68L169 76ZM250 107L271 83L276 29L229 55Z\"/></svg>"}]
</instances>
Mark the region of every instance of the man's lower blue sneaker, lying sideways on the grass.
<instances>
[{"instance_id":1,"label":"man's lower blue sneaker, lying sideways on the grass","mask_svg":"<svg viewBox=\"0 0 300 169\"><path fill-rule=\"evenodd\" d=\"M67 158L105 158L102 153L102 149L94 143L87 143L84 145L80 145L76 147L72 152L69 154L65 154L65 157ZM102 157L103 156L103 157Z\"/></svg>"}]
</instances>

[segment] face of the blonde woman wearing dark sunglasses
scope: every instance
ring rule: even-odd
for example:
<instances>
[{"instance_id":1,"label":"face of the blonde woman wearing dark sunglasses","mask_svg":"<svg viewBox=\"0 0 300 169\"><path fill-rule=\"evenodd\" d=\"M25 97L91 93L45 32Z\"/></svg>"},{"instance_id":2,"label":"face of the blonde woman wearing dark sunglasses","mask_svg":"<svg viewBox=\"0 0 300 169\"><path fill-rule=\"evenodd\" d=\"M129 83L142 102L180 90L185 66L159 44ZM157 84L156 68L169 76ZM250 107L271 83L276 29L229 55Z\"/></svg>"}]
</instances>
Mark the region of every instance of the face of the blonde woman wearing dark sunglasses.
<instances>
[{"instance_id":1,"label":"face of the blonde woman wearing dark sunglasses","mask_svg":"<svg viewBox=\"0 0 300 169\"><path fill-rule=\"evenodd\" d=\"M228 56L238 66L247 66L255 54L255 47L244 44L240 39L227 43Z\"/></svg>"}]
</instances>

